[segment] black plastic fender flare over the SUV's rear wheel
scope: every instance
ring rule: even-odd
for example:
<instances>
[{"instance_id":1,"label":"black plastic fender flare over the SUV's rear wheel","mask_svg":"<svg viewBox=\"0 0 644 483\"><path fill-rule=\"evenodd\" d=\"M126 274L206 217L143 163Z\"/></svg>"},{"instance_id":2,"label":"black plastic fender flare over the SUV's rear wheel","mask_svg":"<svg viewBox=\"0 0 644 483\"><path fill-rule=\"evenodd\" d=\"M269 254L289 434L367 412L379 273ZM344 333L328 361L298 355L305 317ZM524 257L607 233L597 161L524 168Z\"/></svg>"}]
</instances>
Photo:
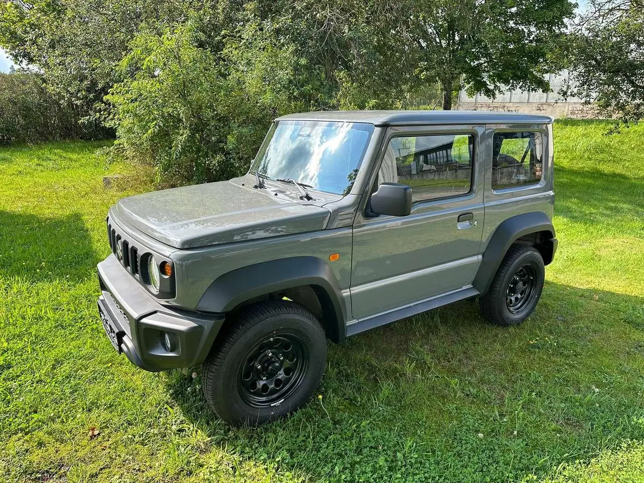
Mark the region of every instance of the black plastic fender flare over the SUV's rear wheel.
<instances>
[{"instance_id":1,"label":"black plastic fender flare over the SUV's rear wheel","mask_svg":"<svg viewBox=\"0 0 644 483\"><path fill-rule=\"evenodd\" d=\"M535 232L545 232L547 234L545 243L548 246L546 247L544 263L545 265L550 263L557 247L557 240L554 238L554 227L550 218L543 211L518 214L500 223L492 234L483 253L483 260L472 282L474 288L481 294L486 293L510 245L515 243L518 238Z\"/></svg>"}]
</instances>

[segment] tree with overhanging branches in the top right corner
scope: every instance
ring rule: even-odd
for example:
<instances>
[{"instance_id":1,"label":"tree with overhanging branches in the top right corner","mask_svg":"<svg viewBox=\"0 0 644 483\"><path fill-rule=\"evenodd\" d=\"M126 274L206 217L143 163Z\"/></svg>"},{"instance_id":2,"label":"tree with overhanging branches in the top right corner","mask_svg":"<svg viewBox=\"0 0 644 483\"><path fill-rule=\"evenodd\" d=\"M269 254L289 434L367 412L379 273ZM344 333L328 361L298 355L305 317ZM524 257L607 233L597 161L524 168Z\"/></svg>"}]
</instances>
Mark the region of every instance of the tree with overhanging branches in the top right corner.
<instances>
[{"instance_id":1,"label":"tree with overhanging branches in the top right corner","mask_svg":"<svg viewBox=\"0 0 644 483\"><path fill-rule=\"evenodd\" d=\"M644 118L644 1L592 0L557 59L571 74L564 95L627 124Z\"/></svg>"}]
</instances>

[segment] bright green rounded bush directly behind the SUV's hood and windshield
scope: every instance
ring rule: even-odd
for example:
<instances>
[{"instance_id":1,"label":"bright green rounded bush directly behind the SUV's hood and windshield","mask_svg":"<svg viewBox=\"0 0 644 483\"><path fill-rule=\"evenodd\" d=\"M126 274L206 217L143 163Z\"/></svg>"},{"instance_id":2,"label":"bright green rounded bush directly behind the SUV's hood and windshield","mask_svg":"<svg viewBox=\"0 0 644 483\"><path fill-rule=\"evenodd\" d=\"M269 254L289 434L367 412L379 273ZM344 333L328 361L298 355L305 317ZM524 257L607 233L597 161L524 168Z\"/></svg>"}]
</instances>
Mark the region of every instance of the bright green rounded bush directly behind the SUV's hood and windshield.
<instances>
[{"instance_id":1,"label":"bright green rounded bush directly behind the SUV's hood and windshield","mask_svg":"<svg viewBox=\"0 0 644 483\"><path fill-rule=\"evenodd\" d=\"M245 172L276 116L296 101L296 59L252 24L219 52L204 48L194 23L164 35L141 33L106 97L114 149L157 168L158 185L231 178Z\"/></svg>"}]
</instances>

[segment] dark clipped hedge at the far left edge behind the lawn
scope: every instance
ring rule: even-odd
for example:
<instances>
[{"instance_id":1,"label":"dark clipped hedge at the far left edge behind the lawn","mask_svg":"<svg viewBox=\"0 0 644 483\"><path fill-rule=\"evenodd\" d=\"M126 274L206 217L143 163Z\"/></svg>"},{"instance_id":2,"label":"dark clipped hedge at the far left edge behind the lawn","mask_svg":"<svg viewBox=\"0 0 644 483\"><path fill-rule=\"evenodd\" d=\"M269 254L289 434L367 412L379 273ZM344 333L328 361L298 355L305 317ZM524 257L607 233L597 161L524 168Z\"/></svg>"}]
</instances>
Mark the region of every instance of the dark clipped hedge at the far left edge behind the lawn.
<instances>
[{"instance_id":1,"label":"dark clipped hedge at the far left edge behind the lawn","mask_svg":"<svg viewBox=\"0 0 644 483\"><path fill-rule=\"evenodd\" d=\"M95 138L104 134L81 126L75 109L47 90L39 73L0 73L0 144Z\"/></svg>"}]
</instances>

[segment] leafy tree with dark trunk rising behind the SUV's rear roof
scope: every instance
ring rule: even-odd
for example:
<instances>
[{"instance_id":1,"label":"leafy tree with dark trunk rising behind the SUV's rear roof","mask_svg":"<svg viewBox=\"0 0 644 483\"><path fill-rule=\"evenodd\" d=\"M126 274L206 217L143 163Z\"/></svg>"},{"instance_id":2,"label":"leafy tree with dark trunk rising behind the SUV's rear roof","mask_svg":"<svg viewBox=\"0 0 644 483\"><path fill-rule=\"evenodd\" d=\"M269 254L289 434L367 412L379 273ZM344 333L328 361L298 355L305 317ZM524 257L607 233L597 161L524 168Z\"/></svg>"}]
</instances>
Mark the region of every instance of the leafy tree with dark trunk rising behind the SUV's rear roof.
<instances>
[{"instance_id":1,"label":"leafy tree with dark trunk rising behind the SUV's rear roof","mask_svg":"<svg viewBox=\"0 0 644 483\"><path fill-rule=\"evenodd\" d=\"M419 82L440 84L442 108L460 88L493 97L502 86L548 90L554 39L573 16L569 0L408 0Z\"/></svg>"}]
</instances>

